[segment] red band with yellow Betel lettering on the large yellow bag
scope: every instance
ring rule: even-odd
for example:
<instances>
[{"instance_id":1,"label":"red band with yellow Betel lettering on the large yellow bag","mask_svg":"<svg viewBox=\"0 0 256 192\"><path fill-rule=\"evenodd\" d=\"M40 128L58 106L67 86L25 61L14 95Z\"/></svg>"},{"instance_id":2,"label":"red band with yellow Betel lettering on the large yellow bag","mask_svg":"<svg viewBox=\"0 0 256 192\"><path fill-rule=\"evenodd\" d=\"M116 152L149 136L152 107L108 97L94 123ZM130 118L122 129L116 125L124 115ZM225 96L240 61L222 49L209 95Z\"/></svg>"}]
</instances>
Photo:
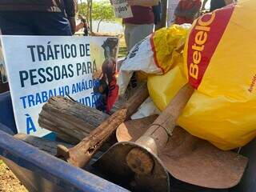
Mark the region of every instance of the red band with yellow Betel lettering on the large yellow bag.
<instances>
[{"instance_id":1,"label":"red band with yellow Betel lettering on the large yellow bag","mask_svg":"<svg viewBox=\"0 0 256 192\"><path fill-rule=\"evenodd\" d=\"M190 31L187 53L189 81L194 89L202 82L202 77L210 63L218 42L226 30L234 11L234 5L204 14L198 18Z\"/></svg>"}]
</instances>

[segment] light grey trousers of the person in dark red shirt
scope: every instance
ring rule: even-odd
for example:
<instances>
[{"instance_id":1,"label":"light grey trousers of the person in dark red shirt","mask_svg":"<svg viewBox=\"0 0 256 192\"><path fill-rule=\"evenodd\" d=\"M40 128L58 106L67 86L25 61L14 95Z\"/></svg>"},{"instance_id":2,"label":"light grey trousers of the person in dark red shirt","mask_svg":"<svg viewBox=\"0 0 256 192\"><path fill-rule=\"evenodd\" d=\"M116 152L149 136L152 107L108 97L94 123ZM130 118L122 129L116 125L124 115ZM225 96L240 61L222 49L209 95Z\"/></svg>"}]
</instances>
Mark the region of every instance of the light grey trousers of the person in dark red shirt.
<instances>
[{"instance_id":1,"label":"light grey trousers of the person in dark red shirt","mask_svg":"<svg viewBox=\"0 0 256 192\"><path fill-rule=\"evenodd\" d=\"M134 25L130 34L130 49L138 42L142 41L149 34L153 33L154 24Z\"/></svg>"}]
</instances>

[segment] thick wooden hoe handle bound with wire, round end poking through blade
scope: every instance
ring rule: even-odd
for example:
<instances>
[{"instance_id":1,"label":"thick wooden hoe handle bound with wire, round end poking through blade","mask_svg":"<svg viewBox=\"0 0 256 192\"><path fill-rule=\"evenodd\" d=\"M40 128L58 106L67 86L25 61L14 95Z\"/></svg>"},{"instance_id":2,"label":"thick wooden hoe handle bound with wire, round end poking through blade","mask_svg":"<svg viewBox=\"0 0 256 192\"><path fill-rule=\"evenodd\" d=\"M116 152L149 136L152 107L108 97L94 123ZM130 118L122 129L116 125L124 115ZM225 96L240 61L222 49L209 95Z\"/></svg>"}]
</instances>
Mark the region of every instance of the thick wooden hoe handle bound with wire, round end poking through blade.
<instances>
[{"instance_id":1,"label":"thick wooden hoe handle bound with wire, round end poking through blade","mask_svg":"<svg viewBox=\"0 0 256 192\"><path fill-rule=\"evenodd\" d=\"M146 133L141 138L138 138L136 143L157 155L158 151L166 146L166 142L168 142L168 138L176 126L178 117L182 114L182 110L190 100L193 92L194 88L189 83L183 86ZM136 174L150 174L154 166L154 161L150 154L139 148L130 150L126 156L126 162Z\"/></svg>"}]
</instances>

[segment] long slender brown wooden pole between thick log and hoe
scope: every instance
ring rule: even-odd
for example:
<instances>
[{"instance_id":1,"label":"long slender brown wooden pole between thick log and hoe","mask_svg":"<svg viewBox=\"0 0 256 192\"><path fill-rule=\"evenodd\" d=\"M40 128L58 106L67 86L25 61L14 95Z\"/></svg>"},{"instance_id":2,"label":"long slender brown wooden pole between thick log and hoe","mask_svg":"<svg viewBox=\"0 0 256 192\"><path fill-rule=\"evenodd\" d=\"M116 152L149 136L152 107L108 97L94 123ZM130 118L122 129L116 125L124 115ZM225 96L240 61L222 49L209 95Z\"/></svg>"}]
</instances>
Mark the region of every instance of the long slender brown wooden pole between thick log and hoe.
<instances>
[{"instance_id":1,"label":"long slender brown wooden pole between thick log and hoe","mask_svg":"<svg viewBox=\"0 0 256 192\"><path fill-rule=\"evenodd\" d=\"M138 87L138 90L126 102L126 105L107 118L97 129L93 130L90 135L79 142L70 150L65 146L58 147L58 155L65 158L67 162L74 166L84 167L90 161L90 158L97 152L97 150L106 142L107 138L114 133L114 130L130 118L131 114L138 109L138 107L149 96L146 83Z\"/></svg>"}]
</instances>

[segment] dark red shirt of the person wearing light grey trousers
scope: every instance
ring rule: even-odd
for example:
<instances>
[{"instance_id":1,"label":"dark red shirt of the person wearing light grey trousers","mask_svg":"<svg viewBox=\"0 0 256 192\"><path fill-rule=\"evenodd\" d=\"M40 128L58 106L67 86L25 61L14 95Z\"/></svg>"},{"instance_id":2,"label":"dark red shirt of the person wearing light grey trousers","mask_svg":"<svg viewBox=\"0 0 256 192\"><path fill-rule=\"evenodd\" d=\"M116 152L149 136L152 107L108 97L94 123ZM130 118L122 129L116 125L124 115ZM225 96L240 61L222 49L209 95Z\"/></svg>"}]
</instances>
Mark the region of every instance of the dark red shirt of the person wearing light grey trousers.
<instances>
[{"instance_id":1,"label":"dark red shirt of the person wearing light grey trousers","mask_svg":"<svg viewBox=\"0 0 256 192\"><path fill-rule=\"evenodd\" d=\"M131 11L134 17L124 18L124 23L142 25L142 24L153 24L154 13L152 7L149 6L131 6Z\"/></svg>"}]
</instances>

